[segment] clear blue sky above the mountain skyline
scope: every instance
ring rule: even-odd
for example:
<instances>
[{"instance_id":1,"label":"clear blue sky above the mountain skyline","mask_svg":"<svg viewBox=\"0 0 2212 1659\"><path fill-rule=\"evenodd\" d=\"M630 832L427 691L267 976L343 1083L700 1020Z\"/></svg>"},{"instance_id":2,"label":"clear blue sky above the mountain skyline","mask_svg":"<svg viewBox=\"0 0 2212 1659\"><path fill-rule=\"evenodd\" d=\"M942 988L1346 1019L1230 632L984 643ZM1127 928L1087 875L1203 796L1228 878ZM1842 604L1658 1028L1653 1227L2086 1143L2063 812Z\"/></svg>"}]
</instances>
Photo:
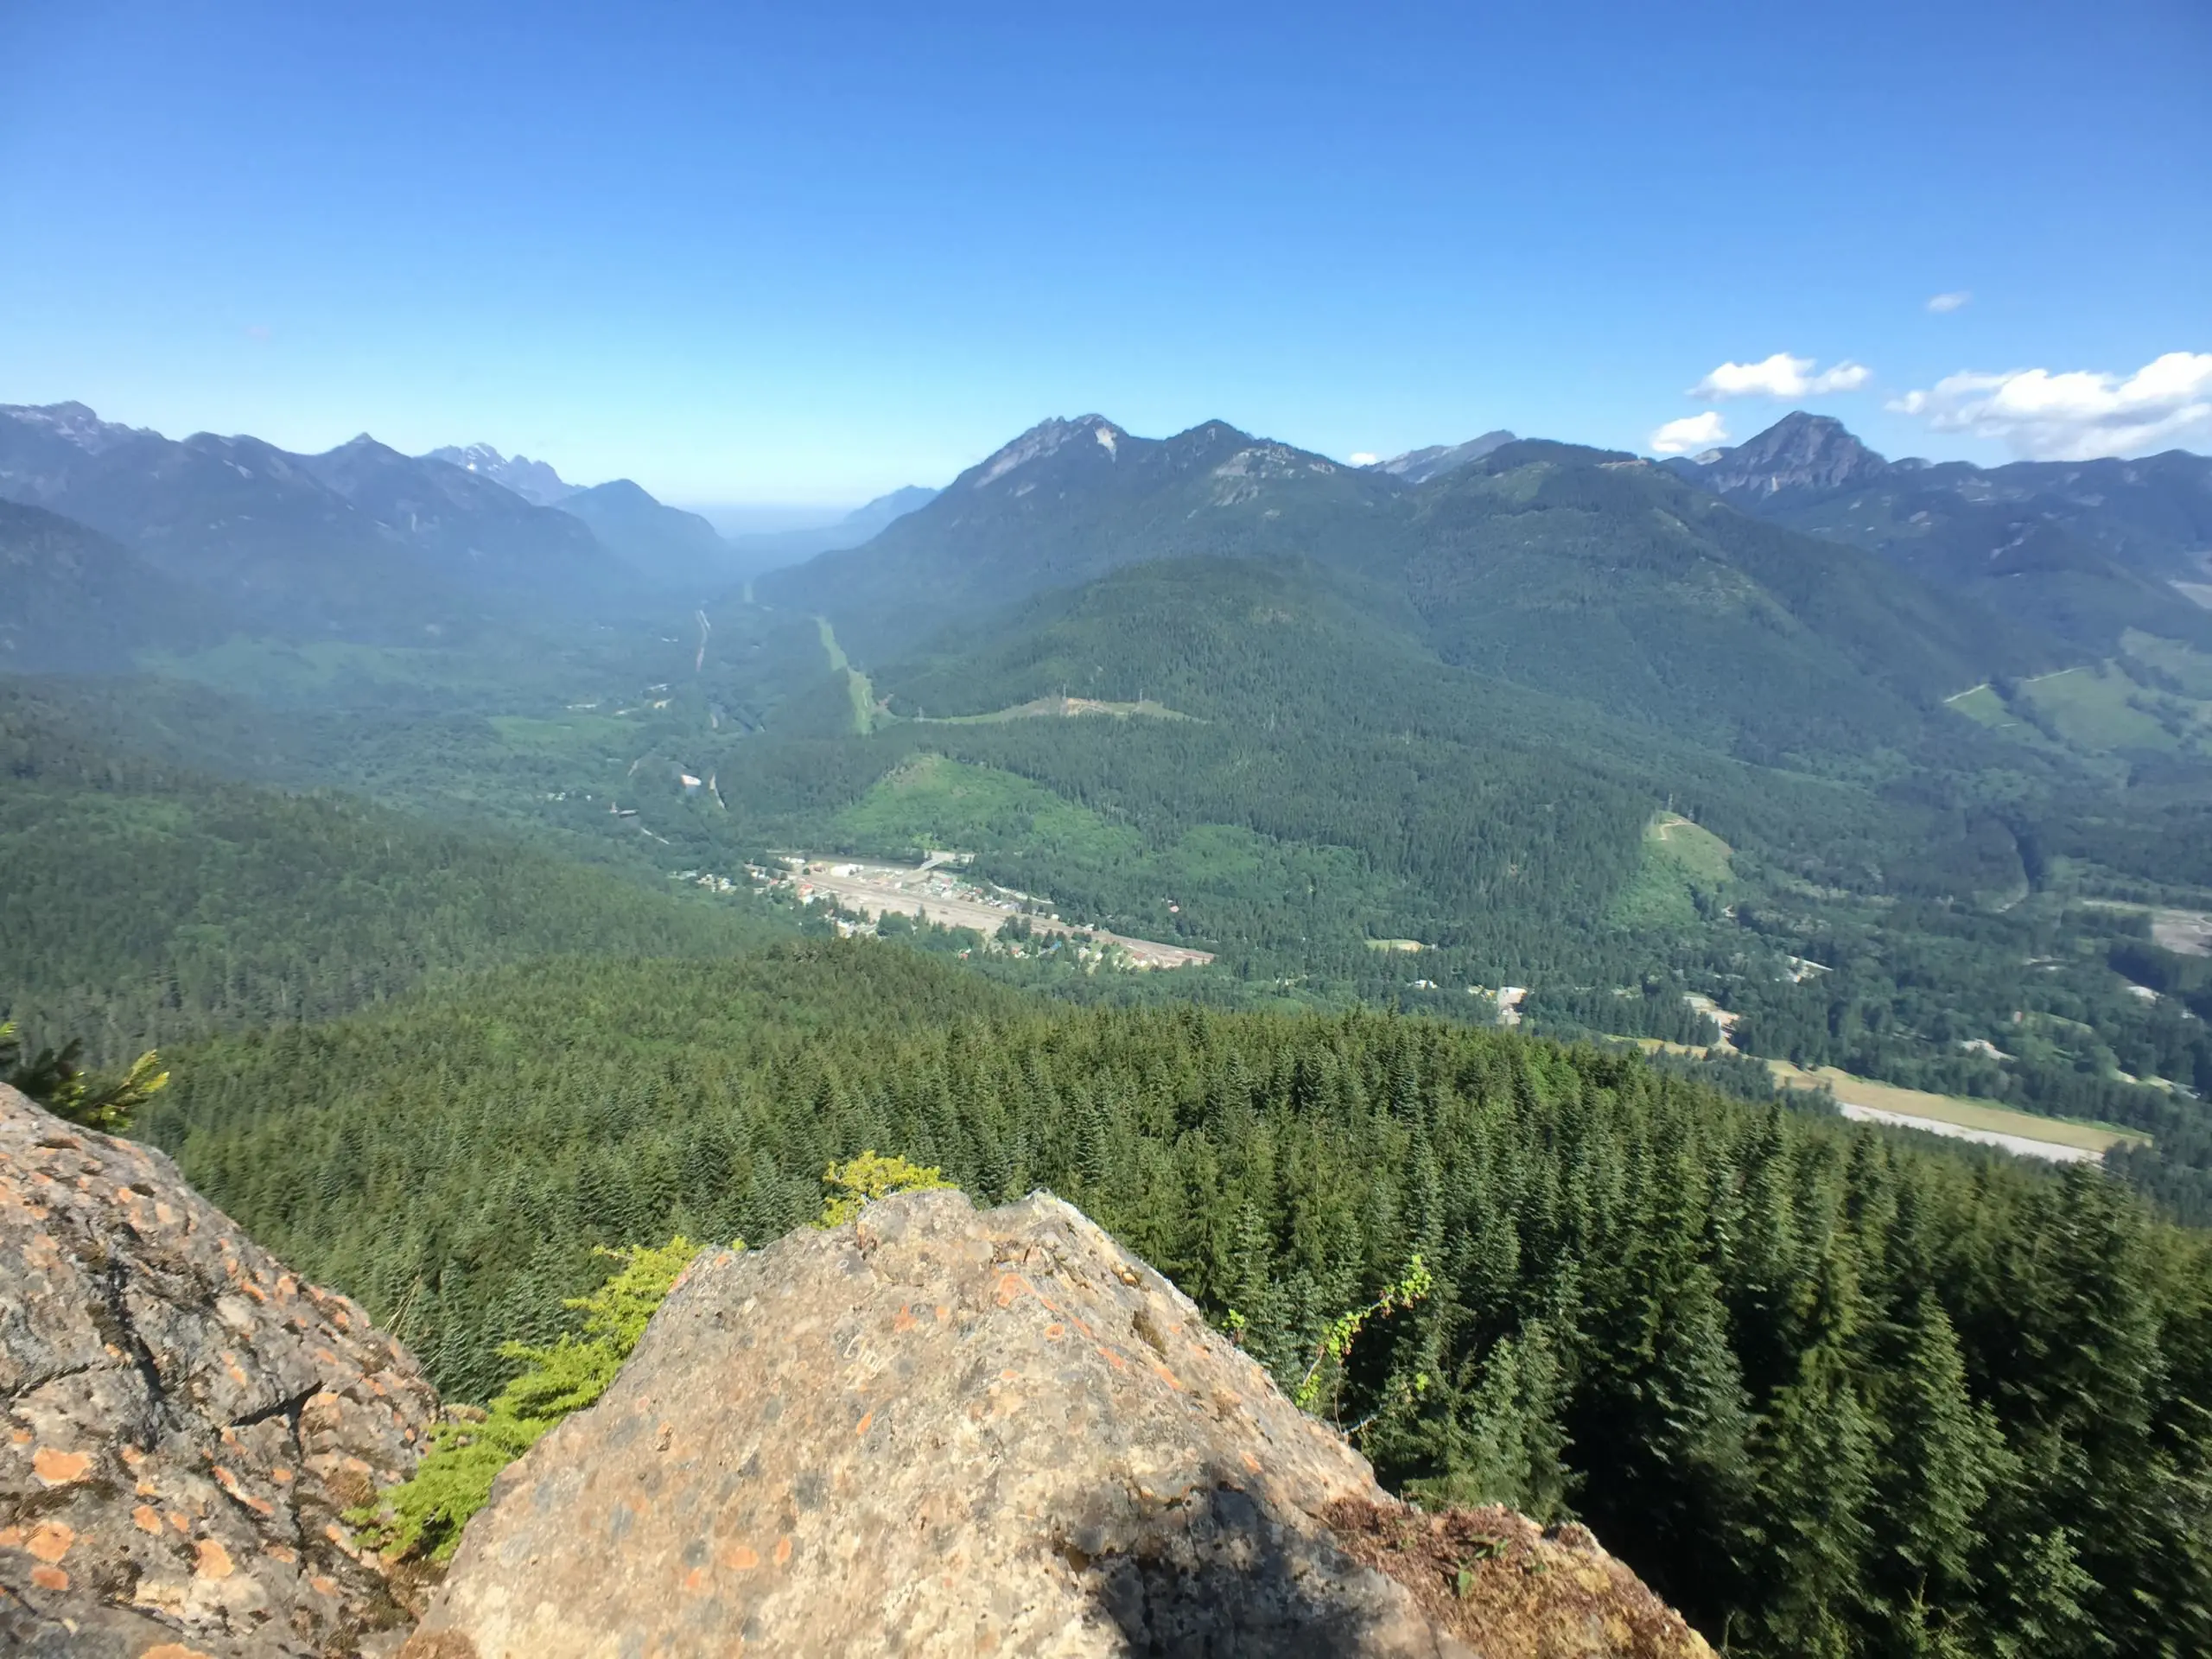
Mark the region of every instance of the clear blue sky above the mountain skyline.
<instances>
[{"instance_id":1,"label":"clear blue sky above the mountain skyline","mask_svg":"<svg viewBox=\"0 0 2212 1659\"><path fill-rule=\"evenodd\" d=\"M681 502L1091 409L2212 449L2208 86L2203 0L0 0L0 403Z\"/></svg>"}]
</instances>

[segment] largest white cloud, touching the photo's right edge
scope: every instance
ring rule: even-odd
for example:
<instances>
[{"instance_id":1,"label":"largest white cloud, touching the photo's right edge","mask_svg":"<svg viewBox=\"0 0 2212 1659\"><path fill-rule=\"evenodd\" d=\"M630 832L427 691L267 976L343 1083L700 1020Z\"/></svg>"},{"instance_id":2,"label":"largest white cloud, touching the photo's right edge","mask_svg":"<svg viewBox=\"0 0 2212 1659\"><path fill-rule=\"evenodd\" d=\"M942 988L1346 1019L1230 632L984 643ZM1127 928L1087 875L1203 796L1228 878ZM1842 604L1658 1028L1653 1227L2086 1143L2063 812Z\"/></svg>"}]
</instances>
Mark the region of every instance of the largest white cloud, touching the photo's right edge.
<instances>
[{"instance_id":1,"label":"largest white cloud, touching the photo's right edge","mask_svg":"<svg viewBox=\"0 0 2212 1659\"><path fill-rule=\"evenodd\" d=\"M1995 438L2022 460L2141 456L2181 438L2212 438L2212 352L2168 352L2130 376L1953 374L1889 407L1936 431Z\"/></svg>"}]
</instances>

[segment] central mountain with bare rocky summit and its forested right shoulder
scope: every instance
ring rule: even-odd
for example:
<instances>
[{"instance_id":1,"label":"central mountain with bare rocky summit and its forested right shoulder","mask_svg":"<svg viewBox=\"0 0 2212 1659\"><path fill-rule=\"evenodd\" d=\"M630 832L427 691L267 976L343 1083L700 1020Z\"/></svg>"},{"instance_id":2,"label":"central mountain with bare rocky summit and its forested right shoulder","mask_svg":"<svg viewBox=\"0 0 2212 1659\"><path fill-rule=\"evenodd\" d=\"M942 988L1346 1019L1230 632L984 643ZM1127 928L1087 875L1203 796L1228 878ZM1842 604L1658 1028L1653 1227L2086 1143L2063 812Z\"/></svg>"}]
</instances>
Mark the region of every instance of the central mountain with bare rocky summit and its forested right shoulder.
<instances>
[{"instance_id":1,"label":"central mountain with bare rocky summit and its forested right shoulder","mask_svg":"<svg viewBox=\"0 0 2212 1659\"><path fill-rule=\"evenodd\" d=\"M880 668L933 626L1002 633L1026 595L1194 555L1305 562L1405 650L1756 759L1909 745L1944 697L2068 661L1630 456L1509 442L1407 484L1219 422L1141 440L1097 416L1024 434L874 542L759 591L821 611Z\"/></svg>"}]
</instances>

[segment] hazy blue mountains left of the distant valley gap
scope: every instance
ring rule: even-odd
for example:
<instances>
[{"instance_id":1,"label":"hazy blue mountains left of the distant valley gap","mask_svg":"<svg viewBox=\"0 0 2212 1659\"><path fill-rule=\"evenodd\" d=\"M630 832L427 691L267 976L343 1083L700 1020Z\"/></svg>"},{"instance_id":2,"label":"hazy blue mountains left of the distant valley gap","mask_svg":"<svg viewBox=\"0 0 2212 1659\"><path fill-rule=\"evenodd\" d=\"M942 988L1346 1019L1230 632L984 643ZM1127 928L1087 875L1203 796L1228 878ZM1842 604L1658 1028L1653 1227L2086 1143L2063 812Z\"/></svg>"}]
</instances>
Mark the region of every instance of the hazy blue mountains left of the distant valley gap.
<instances>
[{"instance_id":1,"label":"hazy blue mountains left of the distant valley gap","mask_svg":"<svg viewBox=\"0 0 2212 1659\"><path fill-rule=\"evenodd\" d=\"M898 500L911 493L843 535L865 540ZM699 602L814 551L732 546L626 478L584 489L489 445L403 456L363 434L299 456L250 436L170 440L82 403L0 405L0 502L53 515L0 515L18 577L0 650L15 668L226 630L420 641L502 613Z\"/></svg>"}]
</instances>

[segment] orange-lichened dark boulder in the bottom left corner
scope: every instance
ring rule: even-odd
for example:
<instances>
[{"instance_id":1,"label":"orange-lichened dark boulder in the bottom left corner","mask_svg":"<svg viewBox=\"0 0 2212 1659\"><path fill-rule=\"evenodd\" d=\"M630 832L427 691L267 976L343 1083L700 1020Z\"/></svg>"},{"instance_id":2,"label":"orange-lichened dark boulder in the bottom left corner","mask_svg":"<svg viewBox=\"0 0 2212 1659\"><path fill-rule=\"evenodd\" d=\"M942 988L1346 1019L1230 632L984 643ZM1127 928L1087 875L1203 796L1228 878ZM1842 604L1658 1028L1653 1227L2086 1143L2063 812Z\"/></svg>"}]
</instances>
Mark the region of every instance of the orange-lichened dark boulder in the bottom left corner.
<instances>
[{"instance_id":1,"label":"orange-lichened dark boulder in the bottom left corner","mask_svg":"<svg viewBox=\"0 0 2212 1659\"><path fill-rule=\"evenodd\" d=\"M0 1086L0 1652L396 1646L343 1509L405 1478L438 1396L155 1150Z\"/></svg>"}]
</instances>

